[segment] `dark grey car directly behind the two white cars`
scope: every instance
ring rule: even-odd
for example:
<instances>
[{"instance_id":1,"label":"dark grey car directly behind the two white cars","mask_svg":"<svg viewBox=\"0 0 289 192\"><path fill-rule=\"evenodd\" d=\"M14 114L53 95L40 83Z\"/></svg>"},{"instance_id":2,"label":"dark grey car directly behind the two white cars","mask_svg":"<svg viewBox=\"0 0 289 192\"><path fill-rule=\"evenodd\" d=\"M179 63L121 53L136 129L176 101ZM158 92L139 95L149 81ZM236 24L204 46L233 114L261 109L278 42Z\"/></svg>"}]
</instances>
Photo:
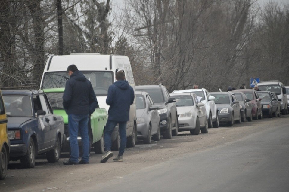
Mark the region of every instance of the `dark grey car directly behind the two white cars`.
<instances>
[{"instance_id":1,"label":"dark grey car directly behind the two white cars","mask_svg":"<svg viewBox=\"0 0 289 192\"><path fill-rule=\"evenodd\" d=\"M239 101L232 92L210 92L215 97L218 108L219 122L233 125L241 123L241 108Z\"/></svg>"}]
</instances>

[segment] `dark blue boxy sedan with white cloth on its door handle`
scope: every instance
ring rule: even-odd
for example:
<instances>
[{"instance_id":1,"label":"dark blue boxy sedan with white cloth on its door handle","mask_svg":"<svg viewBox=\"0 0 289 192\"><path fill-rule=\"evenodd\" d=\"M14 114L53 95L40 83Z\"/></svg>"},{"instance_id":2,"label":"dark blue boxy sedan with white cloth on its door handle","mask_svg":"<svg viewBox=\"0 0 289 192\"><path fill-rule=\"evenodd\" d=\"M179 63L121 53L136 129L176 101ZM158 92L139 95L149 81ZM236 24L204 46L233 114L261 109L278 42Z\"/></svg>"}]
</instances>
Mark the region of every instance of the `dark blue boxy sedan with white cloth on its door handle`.
<instances>
[{"instance_id":1,"label":"dark blue boxy sedan with white cloth on its door handle","mask_svg":"<svg viewBox=\"0 0 289 192\"><path fill-rule=\"evenodd\" d=\"M49 163L59 160L65 139L63 118L52 112L41 90L3 90L8 119L10 160L20 159L24 167L35 166L35 157L46 154Z\"/></svg>"}]
</instances>

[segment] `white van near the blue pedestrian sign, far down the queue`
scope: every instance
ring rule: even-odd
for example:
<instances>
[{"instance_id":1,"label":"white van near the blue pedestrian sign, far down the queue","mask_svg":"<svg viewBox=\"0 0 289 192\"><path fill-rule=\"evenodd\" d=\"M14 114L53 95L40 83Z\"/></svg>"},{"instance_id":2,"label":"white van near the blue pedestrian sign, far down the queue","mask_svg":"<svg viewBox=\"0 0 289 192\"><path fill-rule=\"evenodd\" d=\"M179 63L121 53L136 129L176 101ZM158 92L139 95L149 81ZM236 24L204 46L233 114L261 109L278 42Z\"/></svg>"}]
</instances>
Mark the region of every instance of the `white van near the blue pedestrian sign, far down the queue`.
<instances>
[{"instance_id":1,"label":"white van near the blue pedestrian sign, far down the queue","mask_svg":"<svg viewBox=\"0 0 289 192\"><path fill-rule=\"evenodd\" d=\"M257 83L259 90L261 91L271 91L277 93L278 99L281 100L281 111L283 115L288 114L288 99L286 95L286 88L280 81L260 81ZM258 93L258 92L257 92Z\"/></svg>"}]
</instances>

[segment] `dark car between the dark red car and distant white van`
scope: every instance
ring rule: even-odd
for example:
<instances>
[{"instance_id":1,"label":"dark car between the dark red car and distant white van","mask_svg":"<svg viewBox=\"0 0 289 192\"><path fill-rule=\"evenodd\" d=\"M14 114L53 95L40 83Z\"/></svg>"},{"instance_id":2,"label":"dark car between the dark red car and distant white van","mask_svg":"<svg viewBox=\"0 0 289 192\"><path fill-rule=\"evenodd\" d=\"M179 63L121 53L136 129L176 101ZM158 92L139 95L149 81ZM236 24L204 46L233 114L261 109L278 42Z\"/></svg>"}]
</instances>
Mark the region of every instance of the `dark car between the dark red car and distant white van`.
<instances>
[{"instance_id":1,"label":"dark car between the dark red car and distant white van","mask_svg":"<svg viewBox=\"0 0 289 192\"><path fill-rule=\"evenodd\" d=\"M278 116L278 99L274 97L273 92L257 91L259 97L262 99L262 112L270 118Z\"/></svg>"}]
</instances>

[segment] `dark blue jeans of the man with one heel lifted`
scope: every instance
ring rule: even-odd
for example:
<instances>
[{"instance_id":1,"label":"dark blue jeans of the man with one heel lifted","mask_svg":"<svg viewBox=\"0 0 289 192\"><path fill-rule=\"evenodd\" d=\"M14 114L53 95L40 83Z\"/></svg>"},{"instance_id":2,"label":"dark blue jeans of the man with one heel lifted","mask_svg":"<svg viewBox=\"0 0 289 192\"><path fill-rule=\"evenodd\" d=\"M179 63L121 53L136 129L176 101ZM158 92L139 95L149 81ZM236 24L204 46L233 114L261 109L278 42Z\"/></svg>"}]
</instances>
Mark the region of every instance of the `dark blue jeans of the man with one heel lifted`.
<instances>
[{"instance_id":1,"label":"dark blue jeans of the man with one heel lifted","mask_svg":"<svg viewBox=\"0 0 289 192\"><path fill-rule=\"evenodd\" d=\"M120 134L120 149L118 154L123 155L124 149L126 148L126 121L124 122L117 122L112 120L107 120L105 129L104 129L104 151L110 151L111 149L111 134L117 126L119 128Z\"/></svg>"}]
</instances>

